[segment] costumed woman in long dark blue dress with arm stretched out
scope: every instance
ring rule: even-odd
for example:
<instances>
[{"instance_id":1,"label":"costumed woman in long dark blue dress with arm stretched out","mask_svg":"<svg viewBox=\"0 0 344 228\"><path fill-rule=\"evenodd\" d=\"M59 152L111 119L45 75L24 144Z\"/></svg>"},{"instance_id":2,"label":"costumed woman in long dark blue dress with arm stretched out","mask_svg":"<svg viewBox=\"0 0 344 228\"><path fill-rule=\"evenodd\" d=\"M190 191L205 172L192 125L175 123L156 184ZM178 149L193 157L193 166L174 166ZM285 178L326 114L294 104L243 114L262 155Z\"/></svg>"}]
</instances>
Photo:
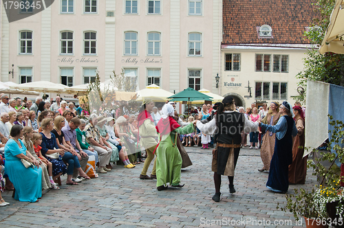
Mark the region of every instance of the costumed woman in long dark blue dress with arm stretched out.
<instances>
[{"instance_id":1,"label":"costumed woman in long dark blue dress with arm stretched out","mask_svg":"<svg viewBox=\"0 0 344 228\"><path fill-rule=\"evenodd\" d=\"M273 192L288 192L288 167L292 163L292 137L297 135L297 128L294 119L292 119L293 113L291 109L292 106L288 102L283 101L281 106L279 106L281 117L275 126L259 122L259 126L266 128L266 130L272 133L276 133L275 150L270 163L268 182L266 183L266 187Z\"/></svg>"}]
</instances>

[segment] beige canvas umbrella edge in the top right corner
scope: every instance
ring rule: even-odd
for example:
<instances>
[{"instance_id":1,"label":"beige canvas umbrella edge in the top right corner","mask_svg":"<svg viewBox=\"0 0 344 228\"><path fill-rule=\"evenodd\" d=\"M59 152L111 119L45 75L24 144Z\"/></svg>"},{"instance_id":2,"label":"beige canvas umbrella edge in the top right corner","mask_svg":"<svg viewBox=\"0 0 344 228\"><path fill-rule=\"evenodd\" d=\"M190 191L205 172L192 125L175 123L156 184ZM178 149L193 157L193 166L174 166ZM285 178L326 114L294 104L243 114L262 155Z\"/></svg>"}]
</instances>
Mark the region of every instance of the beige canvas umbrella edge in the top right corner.
<instances>
[{"instance_id":1,"label":"beige canvas umbrella edge in the top right corner","mask_svg":"<svg viewBox=\"0 0 344 228\"><path fill-rule=\"evenodd\" d=\"M320 54L334 52L344 54L344 0L336 0L331 14L323 43L319 49Z\"/></svg>"}]
</instances>

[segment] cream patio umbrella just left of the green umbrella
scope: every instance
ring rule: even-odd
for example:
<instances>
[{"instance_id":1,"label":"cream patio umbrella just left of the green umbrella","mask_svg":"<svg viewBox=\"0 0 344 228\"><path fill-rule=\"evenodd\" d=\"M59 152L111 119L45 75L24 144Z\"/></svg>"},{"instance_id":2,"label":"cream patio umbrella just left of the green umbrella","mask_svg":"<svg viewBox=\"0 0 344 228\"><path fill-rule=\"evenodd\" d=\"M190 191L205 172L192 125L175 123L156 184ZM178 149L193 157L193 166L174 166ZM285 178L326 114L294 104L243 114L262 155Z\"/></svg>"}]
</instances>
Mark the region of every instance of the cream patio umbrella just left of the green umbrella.
<instances>
[{"instance_id":1,"label":"cream patio umbrella just left of the green umbrella","mask_svg":"<svg viewBox=\"0 0 344 228\"><path fill-rule=\"evenodd\" d=\"M136 99L136 101L142 102L144 98L151 98L155 102L165 102L171 95L174 94L161 89L156 84L151 84L145 89L138 91L138 99Z\"/></svg>"}]
</instances>

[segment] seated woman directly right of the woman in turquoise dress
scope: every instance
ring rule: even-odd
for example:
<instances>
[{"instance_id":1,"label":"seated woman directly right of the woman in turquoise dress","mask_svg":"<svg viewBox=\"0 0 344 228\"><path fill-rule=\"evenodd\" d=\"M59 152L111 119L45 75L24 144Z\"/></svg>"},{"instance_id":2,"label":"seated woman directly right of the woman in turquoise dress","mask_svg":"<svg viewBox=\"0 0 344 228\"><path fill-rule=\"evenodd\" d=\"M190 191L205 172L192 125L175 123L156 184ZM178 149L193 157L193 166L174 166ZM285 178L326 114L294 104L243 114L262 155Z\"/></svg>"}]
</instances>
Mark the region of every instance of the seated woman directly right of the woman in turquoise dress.
<instances>
[{"instance_id":1,"label":"seated woman directly right of the woman in turquoise dress","mask_svg":"<svg viewBox=\"0 0 344 228\"><path fill-rule=\"evenodd\" d=\"M39 155L37 155L35 152L34 144L31 141L31 139L34 137L34 129L31 126L25 126L25 128L23 129L23 133L24 133L24 139L23 139L24 146L30 152L32 157L34 157L37 161L39 161L39 167L42 169L42 189L43 190L46 190L48 188L52 188L55 190L60 189L60 187L58 187L56 183L52 180L52 163L47 161L47 159L43 158L44 161L47 162L47 163L44 163L42 159L39 157ZM39 133L36 133L36 135L40 136L38 140L35 140L36 146L39 146L42 141L42 135ZM39 148L41 147L39 146ZM41 150L39 150L39 153L41 153Z\"/></svg>"}]
</instances>

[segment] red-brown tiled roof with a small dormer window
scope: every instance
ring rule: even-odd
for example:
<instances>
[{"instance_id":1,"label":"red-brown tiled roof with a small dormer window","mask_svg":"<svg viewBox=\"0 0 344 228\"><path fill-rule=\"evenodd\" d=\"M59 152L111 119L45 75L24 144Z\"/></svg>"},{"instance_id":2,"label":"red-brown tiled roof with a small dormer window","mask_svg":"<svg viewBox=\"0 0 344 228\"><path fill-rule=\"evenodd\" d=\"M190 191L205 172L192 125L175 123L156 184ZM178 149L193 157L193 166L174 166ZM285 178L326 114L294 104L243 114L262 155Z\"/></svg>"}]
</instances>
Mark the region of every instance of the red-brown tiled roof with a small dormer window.
<instances>
[{"instance_id":1,"label":"red-brown tiled roof with a small dormer window","mask_svg":"<svg viewBox=\"0 0 344 228\"><path fill-rule=\"evenodd\" d=\"M303 32L319 16L314 0L223 0L223 45L307 44ZM257 26L270 25L273 38L259 38Z\"/></svg>"}]
</instances>

